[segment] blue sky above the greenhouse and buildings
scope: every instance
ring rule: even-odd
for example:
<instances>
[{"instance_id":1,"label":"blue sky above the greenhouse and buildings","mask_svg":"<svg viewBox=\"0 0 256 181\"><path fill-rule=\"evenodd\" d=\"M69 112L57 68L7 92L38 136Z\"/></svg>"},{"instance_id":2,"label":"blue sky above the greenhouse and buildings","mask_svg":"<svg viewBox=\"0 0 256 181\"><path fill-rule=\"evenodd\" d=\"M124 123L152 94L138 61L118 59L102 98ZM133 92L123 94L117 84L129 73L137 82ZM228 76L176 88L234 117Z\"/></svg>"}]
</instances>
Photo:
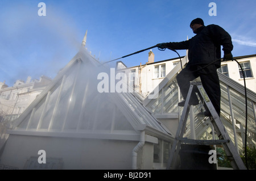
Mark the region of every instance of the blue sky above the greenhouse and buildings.
<instances>
[{"instance_id":1,"label":"blue sky above the greenhouse and buildings","mask_svg":"<svg viewBox=\"0 0 256 181\"><path fill-rule=\"evenodd\" d=\"M38 15L39 2L46 4L46 16ZM210 2L216 3L216 16L209 15ZM255 0L1 0L0 82L13 86L28 76L53 79L78 52L86 30L86 48L105 62L158 43L190 39L195 34L189 24L195 18L228 31L233 56L256 54L255 6ZM171 50L152 51L155 61L177 57ZM178 52L185 55L185 50ZM147 58L145 51L121 61L130 67Z\"/></svg>"}]
</instances>

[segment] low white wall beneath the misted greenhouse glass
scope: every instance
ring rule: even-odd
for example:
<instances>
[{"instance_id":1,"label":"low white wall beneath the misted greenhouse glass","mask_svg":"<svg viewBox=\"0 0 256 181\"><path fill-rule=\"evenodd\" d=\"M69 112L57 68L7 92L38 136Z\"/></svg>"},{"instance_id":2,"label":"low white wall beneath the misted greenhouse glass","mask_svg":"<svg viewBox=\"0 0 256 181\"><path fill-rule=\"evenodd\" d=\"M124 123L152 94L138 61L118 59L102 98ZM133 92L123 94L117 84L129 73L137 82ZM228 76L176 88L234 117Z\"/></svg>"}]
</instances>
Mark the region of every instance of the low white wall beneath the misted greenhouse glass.
<instances>
[{"instance_id":1,"label":"low white wall beneath the misted greenhouse glass","mask_svg":"<svg viewBox=\"0 0 256 181\"><path fill-rule=\"evenodd\" d=\"M62 158L63 169L131 169L132 150L137 141L18 136L11 134L0 164L23 169L39 150L47 158ZM43 164L43 163L42 163Z\"/></svg>"}]
</instances>

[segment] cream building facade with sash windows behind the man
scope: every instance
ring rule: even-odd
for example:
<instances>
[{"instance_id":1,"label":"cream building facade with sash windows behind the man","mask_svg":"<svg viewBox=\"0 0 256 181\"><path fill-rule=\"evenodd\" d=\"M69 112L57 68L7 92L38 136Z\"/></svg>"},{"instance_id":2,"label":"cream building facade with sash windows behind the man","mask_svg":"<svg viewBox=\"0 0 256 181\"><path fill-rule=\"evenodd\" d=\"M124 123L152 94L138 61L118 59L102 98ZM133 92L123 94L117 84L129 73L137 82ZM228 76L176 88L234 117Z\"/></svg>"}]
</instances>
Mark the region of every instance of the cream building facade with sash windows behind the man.
<instances>
[{"instance_id":1,"label":"cream building facade with sash windows behind the man","mask_svg":"<svg viewBox=\"0 0 256 181\"><path fill-rule=\"evenodd\" d=\"M234 57L234 59L240 63L245 72L247 89L255 92L256 54ZM146 62L146 64L127 68L123 62L119 61L117 62L116 69L118 72L126 73L129 86L146 98L146 96L148 96L148 94L150 94L150 92L152 92L166 75L179 63L180 58L171 58L155 62L154 53L150 50L148 53L148 62ZM238 65L236 61L225 61L221 63L221 68L218 69L218 71L243 85L243 74L240 65Z\"/></svg>"}]
</instances>

